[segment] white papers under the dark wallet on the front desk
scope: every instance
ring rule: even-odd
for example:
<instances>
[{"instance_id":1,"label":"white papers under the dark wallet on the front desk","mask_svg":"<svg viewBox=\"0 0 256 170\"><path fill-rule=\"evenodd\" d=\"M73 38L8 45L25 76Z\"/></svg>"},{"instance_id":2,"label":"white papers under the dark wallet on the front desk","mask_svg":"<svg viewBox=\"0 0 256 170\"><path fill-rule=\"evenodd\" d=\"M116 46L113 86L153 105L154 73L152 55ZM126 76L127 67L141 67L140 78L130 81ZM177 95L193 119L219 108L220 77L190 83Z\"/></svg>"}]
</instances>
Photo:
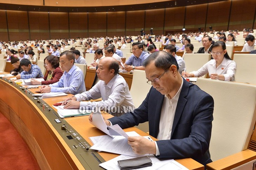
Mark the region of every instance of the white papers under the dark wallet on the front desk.
<instances>
[{"instance_id":1,"label":"white papers under the dark wallet on the front desk","mask_svg":"<svg viewBox=\"0 0 256 170\"><path fill-rule=\"evenodd\" d=\"M154 155L148 155L148 157L152 161L152 166L144 167L144 168L140 168L140 169L143 169L143 170L166 170L166 169L188 170L182 164L178 163L177 161L174 161L173 159L159 160ZM117 157L113 158L112 160L101 163L99 166L101 166L102 168L105 168L107 170L120 170L120 168L117 165L117 161L127 160L127 159L131 159L131 158L134 158L134 157L126 156L126 155L120 155L120 156L117 156Z\"/></svg>"}]
</instances>

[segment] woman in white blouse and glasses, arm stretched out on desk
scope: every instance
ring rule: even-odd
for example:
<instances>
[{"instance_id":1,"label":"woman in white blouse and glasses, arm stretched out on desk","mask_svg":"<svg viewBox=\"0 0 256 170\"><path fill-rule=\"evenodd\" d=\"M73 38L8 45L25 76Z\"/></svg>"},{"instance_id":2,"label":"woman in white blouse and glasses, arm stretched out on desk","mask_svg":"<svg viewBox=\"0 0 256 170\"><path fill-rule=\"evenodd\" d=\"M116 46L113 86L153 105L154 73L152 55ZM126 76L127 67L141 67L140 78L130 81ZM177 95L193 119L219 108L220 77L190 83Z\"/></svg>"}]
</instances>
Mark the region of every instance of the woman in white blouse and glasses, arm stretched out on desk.
<instances>
[{"instance_id":1,"label":"woman in white blouse and glasses, arm stretched out on desk","mask_svg":"<svg viewBox=\"0 0 256 170\"><path fill-rule=\"evenodd\" d=\"M193 72L182 72L183 77L201 77L207 73L211 79L234 81L236 63L230 59L226 50L226 44L217 41L212 45L211 55L214 59L204 64L202 68Z\"/></svg>"}]
</instances>

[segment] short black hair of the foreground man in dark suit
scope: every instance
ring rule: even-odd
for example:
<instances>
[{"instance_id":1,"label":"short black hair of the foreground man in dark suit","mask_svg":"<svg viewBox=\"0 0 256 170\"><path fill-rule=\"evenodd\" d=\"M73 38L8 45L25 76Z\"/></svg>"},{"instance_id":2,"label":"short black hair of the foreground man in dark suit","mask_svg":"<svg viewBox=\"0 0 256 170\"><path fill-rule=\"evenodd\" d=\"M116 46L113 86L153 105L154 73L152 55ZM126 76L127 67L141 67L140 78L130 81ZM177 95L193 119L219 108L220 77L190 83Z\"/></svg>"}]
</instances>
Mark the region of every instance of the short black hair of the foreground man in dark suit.
<instances>
[{"instance_id":1,"label":"short black hair of the foreground man in dark suit","mask_svg":"<svg viewBox=\"0 0 256 170\"><path fill-rule=\"evenodd\" d=\"M144 60L143 66L146 67L152 61L155 62L156 68L161 68L163 70L167 70L171 65L176 65L177 70L179 69L177 60L174 56L170 55L166 51L156 51L148 56L147 59Z\"/></svg>"}]
</instances>

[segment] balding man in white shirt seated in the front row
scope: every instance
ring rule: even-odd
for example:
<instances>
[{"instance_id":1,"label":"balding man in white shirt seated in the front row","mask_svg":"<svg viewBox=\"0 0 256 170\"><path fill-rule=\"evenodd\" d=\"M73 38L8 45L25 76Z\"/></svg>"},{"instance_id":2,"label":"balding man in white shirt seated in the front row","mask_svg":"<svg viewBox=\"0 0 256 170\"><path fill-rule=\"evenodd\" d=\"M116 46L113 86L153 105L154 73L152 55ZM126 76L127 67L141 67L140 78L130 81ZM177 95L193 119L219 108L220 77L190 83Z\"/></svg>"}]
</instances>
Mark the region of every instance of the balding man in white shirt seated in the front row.
<instances>
[{"instance_id":1,"label":"balding man in white shirt seated in the front row","mask_svg":"<svg viewBox=\"0 0 256 170\"><path fill-rule=\"evenodd\" d=\"M133 111L134 105L129 87L124 78L118 75L119 65L112 57L105 57L96 70L100 81L89 91L65 99L64 108L101 109L114 116ZM83 101L102 98L102 101ZM70 100L69 102L67 102ZM81 102L80 102L81 101Z\"/></svg>"}]
</instances>

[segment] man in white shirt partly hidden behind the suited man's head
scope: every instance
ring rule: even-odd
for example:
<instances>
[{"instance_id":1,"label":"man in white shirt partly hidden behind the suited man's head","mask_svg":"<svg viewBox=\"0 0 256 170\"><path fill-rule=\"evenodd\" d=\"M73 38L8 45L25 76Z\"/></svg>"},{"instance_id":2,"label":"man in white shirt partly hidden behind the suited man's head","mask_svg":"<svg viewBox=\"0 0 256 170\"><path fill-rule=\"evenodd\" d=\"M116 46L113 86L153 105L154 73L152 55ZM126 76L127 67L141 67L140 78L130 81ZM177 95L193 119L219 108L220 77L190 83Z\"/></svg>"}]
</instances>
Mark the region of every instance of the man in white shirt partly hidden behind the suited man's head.
<instances>
[{"instance_id":1,"label":"man in white shirt partly hidden behind the suited man's head","mask_svg":"<svg viewBox=\"0 0 256 170\"><path fill-rule=\"evenodd\" d=\"M178 63L178 72L180 72L180 74L182 73L182 71L184 71L186 69L185 66L185 61L181 56L177 56L176 55L176 47L174 45L168 44L166 46L164 46L164 51L168 52L170 55L174 56L174 58L176 59L177 63Z\"/></svg>"}]
</instances>

